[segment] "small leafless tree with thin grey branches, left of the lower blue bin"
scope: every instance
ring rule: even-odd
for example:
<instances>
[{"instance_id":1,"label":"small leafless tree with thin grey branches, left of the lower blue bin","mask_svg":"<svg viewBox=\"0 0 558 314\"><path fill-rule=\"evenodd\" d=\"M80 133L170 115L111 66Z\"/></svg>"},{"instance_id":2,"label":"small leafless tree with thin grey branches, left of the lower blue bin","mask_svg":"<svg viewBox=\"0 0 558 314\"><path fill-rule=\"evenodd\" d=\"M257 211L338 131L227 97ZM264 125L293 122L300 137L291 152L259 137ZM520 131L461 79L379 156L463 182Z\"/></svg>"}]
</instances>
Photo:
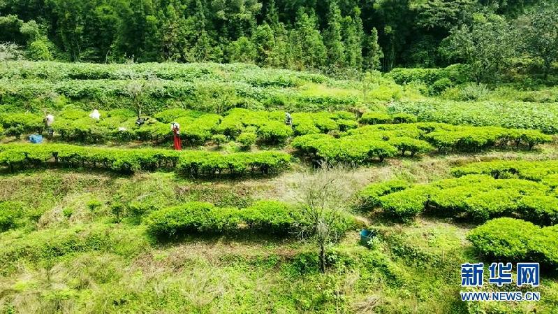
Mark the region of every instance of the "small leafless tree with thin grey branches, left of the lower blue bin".
<instances>
[{"instance_id":1,"label":"small leafless tree with thin grey branches, left of the lower blue bin","mask_svg":"<svg viewBox=\"0 0 558 314\"><path fill-rule=\"evenodd\" d=\"M289 197L300 208L299 236L318 245L320 271L325 273L325 250L348 227L349 204L357 183L343 166L322 164L316 171L298 173Z\"/></svg>"}]
</instances>

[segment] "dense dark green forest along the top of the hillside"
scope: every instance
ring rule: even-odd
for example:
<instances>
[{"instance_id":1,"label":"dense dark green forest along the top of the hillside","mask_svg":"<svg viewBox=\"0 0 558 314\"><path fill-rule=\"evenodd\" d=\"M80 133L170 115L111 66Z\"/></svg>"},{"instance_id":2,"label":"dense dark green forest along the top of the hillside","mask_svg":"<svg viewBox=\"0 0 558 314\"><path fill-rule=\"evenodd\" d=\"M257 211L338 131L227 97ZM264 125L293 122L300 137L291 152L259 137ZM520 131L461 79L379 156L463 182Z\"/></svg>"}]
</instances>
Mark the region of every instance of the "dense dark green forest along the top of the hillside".
<instances>
[{"instance_id":1,"label":"dense dark green forest along the top of the hillside","mask_svg":"<svg viewBox=\"0 0 558 314\"><path fill-rule=\"evenodd\" d=\"M554 2L1 0L0 42L27 59L71 62L247 62L326 73L460 62L480 81L524 62L548 74L558 58Z\"/></svg>"}]
</instances>

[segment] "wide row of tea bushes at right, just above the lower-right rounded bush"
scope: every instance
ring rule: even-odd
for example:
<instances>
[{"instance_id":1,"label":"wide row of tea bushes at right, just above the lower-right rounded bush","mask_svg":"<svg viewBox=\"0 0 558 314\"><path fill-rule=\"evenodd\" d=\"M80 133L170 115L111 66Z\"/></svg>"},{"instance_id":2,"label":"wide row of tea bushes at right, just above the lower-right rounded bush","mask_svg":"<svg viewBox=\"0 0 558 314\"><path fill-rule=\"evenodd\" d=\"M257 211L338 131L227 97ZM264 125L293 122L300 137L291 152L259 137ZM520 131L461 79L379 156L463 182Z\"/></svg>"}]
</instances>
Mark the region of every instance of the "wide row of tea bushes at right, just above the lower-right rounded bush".
<instances>
[{"instance_id":1,"label":"wide row of tea bushes at right, just above the lower-right rounded bush","mask_svg":"<svg viewBox=\"0 0 558 314\"><path fill-rule=\"evenodd\" d=\"M545 168L547 165L553 168ZM480 173L489 166L471 164ZM425 185L411 186L402 181L388 181L369 185L360 192L360 206L366 210L383 208L388 215L408 220L428 212L457 219L485 221L494 217L522 217L536 224L558 223L558 162L541 162L529 167L538 168L538 180L464 174L454 169L459 178L439 180ZM552 170L553 169L553 170ZM534 172L534 171L533 171Z\"/></svg>"}]
</instances>

